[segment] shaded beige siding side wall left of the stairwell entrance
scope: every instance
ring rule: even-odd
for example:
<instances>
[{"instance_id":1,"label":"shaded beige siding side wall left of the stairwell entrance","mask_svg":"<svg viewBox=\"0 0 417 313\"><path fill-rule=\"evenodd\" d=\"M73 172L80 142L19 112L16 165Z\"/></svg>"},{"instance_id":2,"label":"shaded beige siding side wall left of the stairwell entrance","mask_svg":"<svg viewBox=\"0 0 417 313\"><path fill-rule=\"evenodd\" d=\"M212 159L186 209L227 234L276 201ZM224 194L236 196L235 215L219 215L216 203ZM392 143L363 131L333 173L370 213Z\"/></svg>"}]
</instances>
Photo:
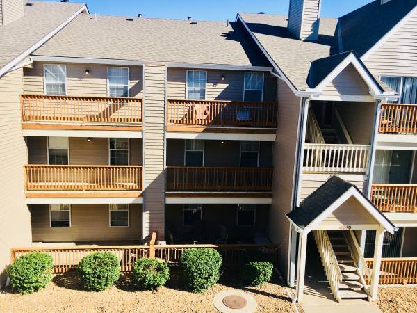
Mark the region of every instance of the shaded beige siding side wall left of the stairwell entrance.
<instances>
[{"instance_id":1,"label":"shaded beige siding side wall left of the stairwell entrance","mask_svg":"<svg viewBox=\"0 0 417 313\"><path fill-rule=\"evenodd\" d=\"M285 129L285 131L280 131L275 141L275 168L268 235L273 243L282 245L279 249L279 264L281 273L287 273L290 224L286 214L292 209L300 98L295 97L284 81L278 80L277 89L279 100L277 129Z\"/></svg>"}]
</instances>

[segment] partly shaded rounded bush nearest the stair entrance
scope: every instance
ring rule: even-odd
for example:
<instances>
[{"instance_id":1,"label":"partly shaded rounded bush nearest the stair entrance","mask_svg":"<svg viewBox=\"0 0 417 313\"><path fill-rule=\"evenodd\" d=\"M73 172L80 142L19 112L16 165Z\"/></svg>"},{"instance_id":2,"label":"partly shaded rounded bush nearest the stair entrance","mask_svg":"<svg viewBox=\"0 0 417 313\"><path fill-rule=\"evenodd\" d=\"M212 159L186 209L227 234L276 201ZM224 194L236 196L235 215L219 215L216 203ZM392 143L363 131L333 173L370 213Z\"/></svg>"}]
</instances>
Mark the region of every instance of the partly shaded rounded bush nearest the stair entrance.
<instances>
[{"instance_id":1,"label":"partly shaded rounded bush nearest the stair entrance","mask_svg":"<svg viewBox=\"0 0 417 313\"><path fill-rule=\"evenodd\" d=\"M261 286L269 282L274 271L274 264L262 252L247 252L240 264L240 279L250 286Z\"/></svg>"}]
</instances>

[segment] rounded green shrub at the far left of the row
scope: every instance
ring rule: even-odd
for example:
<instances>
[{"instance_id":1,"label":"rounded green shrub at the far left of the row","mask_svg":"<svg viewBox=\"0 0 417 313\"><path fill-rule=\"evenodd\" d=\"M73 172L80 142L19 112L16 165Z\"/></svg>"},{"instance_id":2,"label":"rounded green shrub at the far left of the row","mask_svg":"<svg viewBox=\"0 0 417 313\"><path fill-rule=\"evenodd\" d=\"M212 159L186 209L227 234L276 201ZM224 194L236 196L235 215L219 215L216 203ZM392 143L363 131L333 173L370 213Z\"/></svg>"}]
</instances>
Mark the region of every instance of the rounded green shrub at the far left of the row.
<instances>
[{"instance_id":1,"label":"rounded green shrub at the far left of the row","mask_svg":"<svg viewBox=\"0 0 417 313\"><path fill-rule=\"evenodd\" d=\"M13 290L21 294L31 294L47 287L54 271L51 255L43 252L31 252L22 255L9 266L8 275Z\"/></svg>"}]
</instances>

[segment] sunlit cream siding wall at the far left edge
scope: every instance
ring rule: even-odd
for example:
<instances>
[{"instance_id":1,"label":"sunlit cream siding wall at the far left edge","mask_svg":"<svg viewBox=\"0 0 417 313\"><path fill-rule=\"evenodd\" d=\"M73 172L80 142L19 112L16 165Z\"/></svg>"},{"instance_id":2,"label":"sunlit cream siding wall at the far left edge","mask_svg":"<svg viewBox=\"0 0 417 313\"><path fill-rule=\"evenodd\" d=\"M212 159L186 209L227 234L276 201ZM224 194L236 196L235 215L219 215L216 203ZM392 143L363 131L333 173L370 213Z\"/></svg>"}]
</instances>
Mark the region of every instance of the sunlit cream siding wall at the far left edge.
<instances>
[{"instance_id":1,"label":"sunlit cream siding wall at the far left edge","mask_svg":"<svg viewBox=\"0 0 417 313\"><path fill-rule=\"evenodd\" d=\"M22 81L22 69L0 77L0 284L10 263L10 248L31 243L31 216L24 195L27 151L19 99Z\"/></svg>"}]
</instances>

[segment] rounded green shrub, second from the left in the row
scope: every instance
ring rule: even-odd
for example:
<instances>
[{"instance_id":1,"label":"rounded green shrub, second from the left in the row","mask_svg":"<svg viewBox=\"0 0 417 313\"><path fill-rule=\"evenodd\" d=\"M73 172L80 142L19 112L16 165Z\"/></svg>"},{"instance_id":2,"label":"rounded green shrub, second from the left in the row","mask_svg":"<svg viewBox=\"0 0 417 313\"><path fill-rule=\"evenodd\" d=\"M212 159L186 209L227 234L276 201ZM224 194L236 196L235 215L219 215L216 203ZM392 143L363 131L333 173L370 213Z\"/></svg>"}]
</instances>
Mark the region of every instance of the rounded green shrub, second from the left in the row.
<instances>
[{"instance_id":1,"label":"rounded green shrub, second from the left in the row","mask_svg":"<svg viewBox=\"0 0 417 313\"><path fill-rule=\"evenodd\" d=\"M95 252L81 259L78 270L85 289L101 291L117 282L120 263L111 252Z\"/></svg>"}]
</instances>

